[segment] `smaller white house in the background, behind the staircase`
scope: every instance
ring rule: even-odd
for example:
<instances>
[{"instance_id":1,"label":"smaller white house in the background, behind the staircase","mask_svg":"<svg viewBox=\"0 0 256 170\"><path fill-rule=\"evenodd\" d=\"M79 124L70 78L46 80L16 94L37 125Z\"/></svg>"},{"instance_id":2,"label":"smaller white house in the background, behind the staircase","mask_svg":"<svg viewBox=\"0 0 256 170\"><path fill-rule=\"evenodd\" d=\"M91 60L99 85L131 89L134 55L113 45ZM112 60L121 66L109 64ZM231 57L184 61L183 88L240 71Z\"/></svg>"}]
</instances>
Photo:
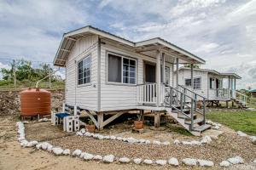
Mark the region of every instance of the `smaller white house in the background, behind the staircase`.
<instances>
[{"instance_id":1,"label":"smaller white house in the background, behind the staircase","mask_svg":"<svg viewBox=\"0 0 256 170\"><path fill-rule=\"evenodd\" d=\"M176 75L175 71L175 77ZM220 101L226 102L227 106L229 102L232 102L232 105L235 102L237 105L246 105L247 96L236 90L237 79L241 79L241 77L236 73L220 73L194 68L193 82L191 82L191 68L181 67L178 69L178 84L206 97L212 105L213 103L219 105Z\"/></svg>"}]
</instances>

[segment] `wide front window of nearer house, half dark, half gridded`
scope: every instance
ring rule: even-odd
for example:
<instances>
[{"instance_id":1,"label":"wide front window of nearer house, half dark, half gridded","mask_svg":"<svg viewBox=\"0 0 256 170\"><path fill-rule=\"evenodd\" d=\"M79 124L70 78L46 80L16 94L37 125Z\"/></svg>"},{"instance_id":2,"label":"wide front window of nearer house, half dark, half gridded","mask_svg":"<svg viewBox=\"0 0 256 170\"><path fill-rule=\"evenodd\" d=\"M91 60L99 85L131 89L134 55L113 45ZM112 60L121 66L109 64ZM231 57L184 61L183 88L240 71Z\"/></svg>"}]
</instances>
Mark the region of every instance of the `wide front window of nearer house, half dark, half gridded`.
<instances>
[{"instance_id":1,"label":"wide front window of nearer house, half dark, half gridded","mask_svg":"<svg viewBox=\"0 0 256 170\"><path fill-rule=\"evenodd\" d=\"M136 60L108 54L108 82L136 84Z\"/></svg>"}]
</instances>

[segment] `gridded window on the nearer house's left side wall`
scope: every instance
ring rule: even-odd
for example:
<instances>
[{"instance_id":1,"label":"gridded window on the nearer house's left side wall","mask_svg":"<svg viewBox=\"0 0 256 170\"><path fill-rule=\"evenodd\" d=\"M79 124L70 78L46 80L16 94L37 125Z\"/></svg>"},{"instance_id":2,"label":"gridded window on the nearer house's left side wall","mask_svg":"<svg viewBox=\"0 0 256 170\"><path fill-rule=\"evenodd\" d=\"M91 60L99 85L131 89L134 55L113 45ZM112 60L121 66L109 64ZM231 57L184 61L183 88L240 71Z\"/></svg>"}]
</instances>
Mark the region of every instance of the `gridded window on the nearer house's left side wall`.
<instances>
[{"instance_id":1,"label":"gridded window on the nearer house's left side wall","mask_svg":"<svg viewBox=\"0 0 256 170\"><path fill-rule=\"evenodd\" d=\"M79 61L79 85L90 82L90 56Z\"/></svg>"}]
</instances>

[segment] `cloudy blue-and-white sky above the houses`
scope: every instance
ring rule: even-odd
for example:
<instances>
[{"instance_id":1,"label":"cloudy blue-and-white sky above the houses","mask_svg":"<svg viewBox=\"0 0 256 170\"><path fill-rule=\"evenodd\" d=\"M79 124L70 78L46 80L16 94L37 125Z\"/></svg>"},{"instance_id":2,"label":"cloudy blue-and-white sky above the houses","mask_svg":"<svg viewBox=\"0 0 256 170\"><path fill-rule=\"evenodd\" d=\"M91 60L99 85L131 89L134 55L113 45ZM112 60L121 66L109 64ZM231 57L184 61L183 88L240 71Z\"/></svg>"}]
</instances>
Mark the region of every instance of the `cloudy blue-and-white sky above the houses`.
<instances>
[{"instance_id":1,"label":"cloudy blue-and-white sky above the houses","mask_svg":"<svg viewBox=\"0 0 256 170\"><path fill-rule=\"evenodd\" d=\"M162 37L256 88L256 0L0 0L0 68L51 64L63 33L88 25L134 42Z\"/></svg>"}]
</instances>

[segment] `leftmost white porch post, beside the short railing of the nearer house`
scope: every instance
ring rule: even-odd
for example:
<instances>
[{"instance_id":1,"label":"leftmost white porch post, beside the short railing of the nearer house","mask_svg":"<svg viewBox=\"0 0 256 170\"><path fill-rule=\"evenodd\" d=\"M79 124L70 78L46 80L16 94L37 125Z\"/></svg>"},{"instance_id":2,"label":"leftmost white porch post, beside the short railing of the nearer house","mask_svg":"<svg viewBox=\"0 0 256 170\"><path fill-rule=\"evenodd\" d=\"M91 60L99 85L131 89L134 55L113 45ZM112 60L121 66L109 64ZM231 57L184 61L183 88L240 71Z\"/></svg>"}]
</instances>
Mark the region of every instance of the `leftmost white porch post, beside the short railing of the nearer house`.
<instances>
[{"instance_id":1,"label":"leftmost white porch post, beside the short railing of the nearer house","mask_svg":"<svg viewBox=\"0 0 256 170\"><path fill-rule=\"evenodd\" d=\"M156 105L160 106L160 89L161 89L161 76L160 76L160 52L157 51L156 54L156 83L157 83L157 98Z\"/></svg>"}]
</instances>

